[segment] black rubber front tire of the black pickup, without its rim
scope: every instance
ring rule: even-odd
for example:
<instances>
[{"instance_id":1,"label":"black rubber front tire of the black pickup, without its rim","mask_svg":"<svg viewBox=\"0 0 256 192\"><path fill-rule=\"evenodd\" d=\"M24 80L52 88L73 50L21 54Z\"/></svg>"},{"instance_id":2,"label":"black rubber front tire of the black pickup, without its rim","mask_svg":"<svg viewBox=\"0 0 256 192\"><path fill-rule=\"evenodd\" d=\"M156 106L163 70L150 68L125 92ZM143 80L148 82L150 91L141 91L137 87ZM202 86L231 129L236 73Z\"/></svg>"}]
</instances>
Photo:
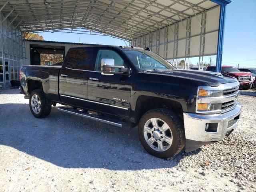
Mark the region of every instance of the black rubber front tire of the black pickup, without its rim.
<instances>
[{"instance_id":1,"label":"black rubber front tire of the black pickup, without its rim","mask_svg":"<svg viewBox=\"0 0 256 192\"><path fill-rule=\"evenodd\" d=\"M144 138L144 125L151 118L159 118L161 120L164 120L164 122L166 122L170 127L170 130L172 132L172 144L170 148L168 148L165 151L160 152L152 149L147 144L146 139ZM140 142L142 143L146 151L151 155L159 158L170 158L172 156L175 156L185 146L186 139L183 122L180 120L180 118L178 118L178 116L176 116L172 111L168 109L158 108L146 112L140 119L138 131Z\"/></svg>"}]
</instances>

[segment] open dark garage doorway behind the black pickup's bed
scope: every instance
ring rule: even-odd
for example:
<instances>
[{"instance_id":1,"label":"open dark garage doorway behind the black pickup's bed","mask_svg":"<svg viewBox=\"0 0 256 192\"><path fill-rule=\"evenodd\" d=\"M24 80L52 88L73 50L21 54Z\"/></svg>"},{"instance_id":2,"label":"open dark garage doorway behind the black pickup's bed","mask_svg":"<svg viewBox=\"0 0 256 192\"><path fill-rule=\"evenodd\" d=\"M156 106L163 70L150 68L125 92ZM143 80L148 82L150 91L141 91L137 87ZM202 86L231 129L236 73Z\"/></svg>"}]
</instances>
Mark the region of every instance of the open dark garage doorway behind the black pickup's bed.
<instances>
[{"instance_id":1,"label":"open dark garage doorway behind the black pickup's bed","mask_svg":"<svg viewBox=\"0 0 256 192\"><path fill-rule=\"evenodd\" d=\"M61 64L64 56L64 46L30 44L30 65Z\"/></svg>"}]
</instances>

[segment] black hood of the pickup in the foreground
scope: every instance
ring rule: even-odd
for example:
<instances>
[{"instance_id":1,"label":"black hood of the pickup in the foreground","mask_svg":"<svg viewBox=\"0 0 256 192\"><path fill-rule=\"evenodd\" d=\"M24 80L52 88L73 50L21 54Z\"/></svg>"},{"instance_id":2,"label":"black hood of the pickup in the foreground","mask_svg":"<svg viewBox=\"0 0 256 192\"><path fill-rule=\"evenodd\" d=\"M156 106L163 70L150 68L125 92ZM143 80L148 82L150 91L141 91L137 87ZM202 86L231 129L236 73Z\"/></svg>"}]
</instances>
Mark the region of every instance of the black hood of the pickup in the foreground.
<instances>
[{"instance_id":1,"label":"black hood of the pickup in the foreground","mask_svg":"<svg viewBox=\"0 0 256 192\"><path fill-rule=\"evenodd\" d=\"M212 87L219 86L224 83L236 82L236 78L232 78L225 74L209 72L209 71L200 71L200 70L154 70L147 73L158 74L164 76L173 76L178 78L185 78L188 80L194 80L199 82L208 83Z\"/></svg>"}]
</instances>

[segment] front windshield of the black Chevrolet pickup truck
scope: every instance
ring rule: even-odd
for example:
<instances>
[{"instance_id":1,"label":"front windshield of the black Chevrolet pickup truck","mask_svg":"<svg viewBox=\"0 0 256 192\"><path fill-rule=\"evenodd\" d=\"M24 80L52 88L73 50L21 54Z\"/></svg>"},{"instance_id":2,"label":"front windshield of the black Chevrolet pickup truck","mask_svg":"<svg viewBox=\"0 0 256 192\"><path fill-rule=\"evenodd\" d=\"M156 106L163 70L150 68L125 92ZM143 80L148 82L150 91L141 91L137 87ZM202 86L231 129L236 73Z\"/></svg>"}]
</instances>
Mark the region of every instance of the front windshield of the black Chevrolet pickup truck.
<instances>
[{"instance_id":1,"label":"front windshield of the black Chevrolet pickup truck","mask_svg":"<svg viewBox=\"0 0 256 192\"><path fill-rule=\"evenodd\" d=\"M124 50L124 53L132 60L134 65L142 70L169 70L176 69L164 58L148 50Z\"/></svg>"}]
</instances>

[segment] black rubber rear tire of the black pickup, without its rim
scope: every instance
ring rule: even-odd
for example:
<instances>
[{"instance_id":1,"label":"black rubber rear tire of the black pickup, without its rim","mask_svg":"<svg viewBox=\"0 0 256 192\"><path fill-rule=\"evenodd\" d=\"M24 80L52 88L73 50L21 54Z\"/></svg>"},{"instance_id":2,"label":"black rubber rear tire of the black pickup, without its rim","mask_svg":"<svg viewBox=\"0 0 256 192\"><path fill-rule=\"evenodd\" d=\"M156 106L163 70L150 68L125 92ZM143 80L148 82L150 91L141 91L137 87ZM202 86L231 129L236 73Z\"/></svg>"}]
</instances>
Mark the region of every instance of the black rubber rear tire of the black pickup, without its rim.
<instances>
[{"instance_id":1,"label":"black rubber rear tire of the black pickup, without its rim","mask_svg":"<svg viewBox=\"0 0 256 192\"><path fill-rule=\"evenodd\" d=\"M32 101L32 96L33 95L37 95L40 99L41 102L41 108L40 108L40 112L36 113L33 111L32 109L32 105L31 105L31 101ZM46 97L44 96L44 91L41 89L36 89L33 90L29 96L29 106L30 106L30 111L31 113L36 117L36 118L44 118L46 116L48 116L52 110L52 105L50 102L48 102L48 100L46 99Z\"/></svg>"}]
</instances>

